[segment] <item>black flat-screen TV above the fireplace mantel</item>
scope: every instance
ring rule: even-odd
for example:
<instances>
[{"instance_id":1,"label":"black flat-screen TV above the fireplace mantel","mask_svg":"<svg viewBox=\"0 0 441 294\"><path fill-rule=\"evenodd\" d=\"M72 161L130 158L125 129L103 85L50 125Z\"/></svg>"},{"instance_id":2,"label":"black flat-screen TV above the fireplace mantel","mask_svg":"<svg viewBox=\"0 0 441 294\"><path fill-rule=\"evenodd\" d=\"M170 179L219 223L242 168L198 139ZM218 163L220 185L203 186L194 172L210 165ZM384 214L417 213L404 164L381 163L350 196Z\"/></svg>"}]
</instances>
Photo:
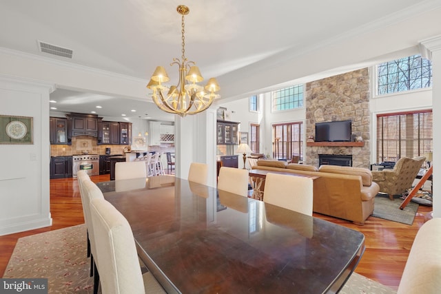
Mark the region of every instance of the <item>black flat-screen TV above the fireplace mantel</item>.
<instances>
[{"instance_id":1,"label":"black flat-screen TV above the fireplace mantel","mask_svg":"<svg viewBox=\"0 0 441 294\"><path fill-rule=\"evenodd\" d=\"M316 142L351 142L352 120L316 123Z\"/></svg>"}]
</instances>

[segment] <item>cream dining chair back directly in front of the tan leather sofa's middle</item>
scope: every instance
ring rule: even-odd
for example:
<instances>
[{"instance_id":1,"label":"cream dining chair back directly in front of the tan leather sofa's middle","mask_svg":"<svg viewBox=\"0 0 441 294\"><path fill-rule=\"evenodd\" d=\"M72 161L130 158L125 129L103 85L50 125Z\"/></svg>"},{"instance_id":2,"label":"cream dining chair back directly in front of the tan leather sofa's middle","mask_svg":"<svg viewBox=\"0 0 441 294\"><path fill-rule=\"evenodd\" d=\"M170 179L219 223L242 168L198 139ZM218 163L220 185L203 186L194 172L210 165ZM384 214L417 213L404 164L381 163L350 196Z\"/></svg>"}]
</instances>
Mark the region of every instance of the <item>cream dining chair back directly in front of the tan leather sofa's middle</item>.
<instances>
[{"instance_id":1,"label":"cream dining chair back directly in front of the tan leather sofa's middle","mask_svg":"<svg viewBox=\"0 0 441 294\"><path fill-rule=\"evenodd\" d=\"M268 173L263 202L312 216L313 180Z\"/></svg>"}]
</instances>

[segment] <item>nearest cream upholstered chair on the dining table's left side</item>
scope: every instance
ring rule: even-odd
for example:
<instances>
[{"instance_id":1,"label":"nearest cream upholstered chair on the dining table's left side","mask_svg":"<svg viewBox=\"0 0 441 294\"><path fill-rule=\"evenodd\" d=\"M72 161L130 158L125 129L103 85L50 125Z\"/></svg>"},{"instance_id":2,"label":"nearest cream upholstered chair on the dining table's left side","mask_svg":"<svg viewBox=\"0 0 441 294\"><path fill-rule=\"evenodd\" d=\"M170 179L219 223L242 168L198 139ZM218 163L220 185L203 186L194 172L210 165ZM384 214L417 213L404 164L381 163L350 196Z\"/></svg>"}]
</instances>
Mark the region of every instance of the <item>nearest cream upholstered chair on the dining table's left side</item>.
<instances>
[{"instance_id":1,"label":"nearest cream upholstered chair on the dining table's left side","mask_svg":"<svg viewBox=\"0 0 441 294\"><path fill-rule=\"evenodd\" d=\"M104 199L90 202L102 293L165 293L152 273L141 273L130 224Z\"/></svg>"}]
</instances>

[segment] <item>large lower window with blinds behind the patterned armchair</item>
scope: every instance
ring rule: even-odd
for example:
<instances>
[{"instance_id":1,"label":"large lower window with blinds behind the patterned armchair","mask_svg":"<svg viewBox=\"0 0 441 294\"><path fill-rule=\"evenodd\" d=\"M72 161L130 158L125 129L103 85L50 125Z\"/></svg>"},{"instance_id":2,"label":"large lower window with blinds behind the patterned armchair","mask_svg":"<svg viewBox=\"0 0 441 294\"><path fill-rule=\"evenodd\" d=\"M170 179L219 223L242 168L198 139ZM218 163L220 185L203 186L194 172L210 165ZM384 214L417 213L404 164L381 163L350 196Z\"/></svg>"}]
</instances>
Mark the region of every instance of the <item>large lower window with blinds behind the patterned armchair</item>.
<instances>
[{"instance_id":1,"label":"large lower window with blinds behind the patterned armchair","mask_svg":"<svg viewBox=\"0 0 441 294\"><path fill-rule=\"evenodd\" d=\"M377 116L377 162L413 158L429 151L433 151L431 109Z\"/></svg>"}]
</instances>

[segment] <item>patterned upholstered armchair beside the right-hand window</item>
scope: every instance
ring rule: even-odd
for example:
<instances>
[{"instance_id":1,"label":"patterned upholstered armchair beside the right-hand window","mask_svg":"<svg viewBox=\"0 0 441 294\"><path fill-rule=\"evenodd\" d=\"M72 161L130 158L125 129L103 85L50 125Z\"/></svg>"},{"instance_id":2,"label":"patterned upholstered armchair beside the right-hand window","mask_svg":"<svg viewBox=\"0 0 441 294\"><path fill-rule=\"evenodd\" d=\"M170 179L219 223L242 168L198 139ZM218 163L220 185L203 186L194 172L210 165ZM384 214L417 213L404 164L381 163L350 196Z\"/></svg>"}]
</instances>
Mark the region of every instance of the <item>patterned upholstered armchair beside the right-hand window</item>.
<instances>
[{"instance_id":1,"label":"patterned upholstered armchair beside the right-hand window","mask_svg":"<svg viewBox=\"0 0 441 294\"><path fill-rule=\"evenodd\" d=\"M380 186L380 193L389 194L389 198L393 200L393 195L404 193L412 187L425 159L424 156L402 157L393 169L372 171L372 180Z\"/></svg>"}]
</instances>

